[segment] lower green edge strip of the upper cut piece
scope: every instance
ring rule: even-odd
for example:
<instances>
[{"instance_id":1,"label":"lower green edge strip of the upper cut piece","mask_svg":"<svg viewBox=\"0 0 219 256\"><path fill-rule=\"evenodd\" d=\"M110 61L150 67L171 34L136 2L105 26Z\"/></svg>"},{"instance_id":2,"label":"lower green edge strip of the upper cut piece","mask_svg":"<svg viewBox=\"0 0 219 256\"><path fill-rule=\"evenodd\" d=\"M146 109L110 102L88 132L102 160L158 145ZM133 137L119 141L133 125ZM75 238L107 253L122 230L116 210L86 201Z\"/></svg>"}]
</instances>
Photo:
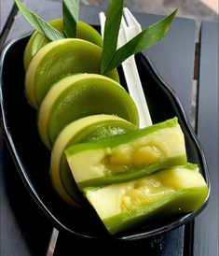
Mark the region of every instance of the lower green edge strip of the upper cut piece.
<instances>
[{"instance_id":1,"label":"lower green edge strip of the upper cut piece","mask_svg":"<svg viewBox=\"0 0 219 256\"><path fill-rule=\"evenodd\" d=\"M160 161L156 164L150 164L147 167L144 167L143 169L131 170L130 172L122 174L106 176L103 178L93 178L87 181L77 182L77 186L80 190L83 190L84 188L89 186L105 186L113 183L126 182L135 178L143 178L144 176L153 174L156 171L163 168L168 168L174 165L186 164L186 161L187 159L185 155L174 158L168 158L167 160Z\"/></svg>"}]
</instances>

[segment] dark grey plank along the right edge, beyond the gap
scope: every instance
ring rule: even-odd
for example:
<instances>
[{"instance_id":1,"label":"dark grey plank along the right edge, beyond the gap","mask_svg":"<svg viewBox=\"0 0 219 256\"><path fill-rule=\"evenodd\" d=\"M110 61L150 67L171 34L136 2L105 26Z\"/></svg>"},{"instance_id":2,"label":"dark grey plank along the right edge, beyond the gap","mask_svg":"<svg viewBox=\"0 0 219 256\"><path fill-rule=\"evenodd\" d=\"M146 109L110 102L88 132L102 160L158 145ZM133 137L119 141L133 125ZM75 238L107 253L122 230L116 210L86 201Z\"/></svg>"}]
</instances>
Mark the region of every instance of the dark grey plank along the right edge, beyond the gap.
<instances>
[{"instance_id":1,"label":"dark grey plank along the right edge, beyond the gap","mask_svg":"<svg viewBox=\"0 0 219 256\"><path fill-rule=\"evenodd\" d=\"M203 21L200 36L198 138L211 174L209 205L196 218L194 255L218 255L218 22Z\"/></svg>"}]
</instances>

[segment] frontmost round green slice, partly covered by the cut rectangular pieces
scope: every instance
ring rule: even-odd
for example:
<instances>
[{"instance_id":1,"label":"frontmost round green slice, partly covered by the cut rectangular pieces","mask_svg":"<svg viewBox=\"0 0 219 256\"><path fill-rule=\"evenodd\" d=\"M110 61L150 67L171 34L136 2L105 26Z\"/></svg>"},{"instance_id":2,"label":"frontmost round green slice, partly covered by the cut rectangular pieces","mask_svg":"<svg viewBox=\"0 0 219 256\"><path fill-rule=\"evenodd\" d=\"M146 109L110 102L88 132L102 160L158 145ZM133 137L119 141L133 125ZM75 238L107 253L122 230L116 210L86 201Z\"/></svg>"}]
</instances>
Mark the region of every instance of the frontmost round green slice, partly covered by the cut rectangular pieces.
<instances>
[{"instance_id":1,"label":"frontmost round green slice, partly covered by the cut rectangular pieces","mask_svg":"<svg viewBox=\"0 0 219 256\"><path fill-rule=\"evenodd\" d=\"M68 124L57 137L51 151L50 178L56 192L71 206L80 205L81 193L67 164L64 150L75 143L98 140L137 129L129 121L112 115L93 115Z\"/></svg>"}]
</instances>

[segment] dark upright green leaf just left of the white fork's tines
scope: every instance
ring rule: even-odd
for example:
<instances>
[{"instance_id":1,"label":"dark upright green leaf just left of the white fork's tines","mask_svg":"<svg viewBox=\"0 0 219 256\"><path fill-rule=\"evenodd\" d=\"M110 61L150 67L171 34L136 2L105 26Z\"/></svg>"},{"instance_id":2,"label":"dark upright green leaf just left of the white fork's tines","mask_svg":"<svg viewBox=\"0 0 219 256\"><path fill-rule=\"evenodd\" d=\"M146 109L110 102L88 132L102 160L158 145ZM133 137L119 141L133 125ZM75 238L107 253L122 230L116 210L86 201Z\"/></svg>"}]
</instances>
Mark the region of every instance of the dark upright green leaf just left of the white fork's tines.
<instances>
[{"instance_id":1,"label":"dark upright green leaf just left of the white fork's tines","mask_svg":"<svg viewBox=\"0 0 219 256\"><path fill-rule=\"evenodd\" d=\"M103 36L103 54L101 63L101 73L105 74L105 68L112 62L116 53L117 37L120 28L124 1L111 0L106 12L106 21Z\"/></svg>"}]
</instances>

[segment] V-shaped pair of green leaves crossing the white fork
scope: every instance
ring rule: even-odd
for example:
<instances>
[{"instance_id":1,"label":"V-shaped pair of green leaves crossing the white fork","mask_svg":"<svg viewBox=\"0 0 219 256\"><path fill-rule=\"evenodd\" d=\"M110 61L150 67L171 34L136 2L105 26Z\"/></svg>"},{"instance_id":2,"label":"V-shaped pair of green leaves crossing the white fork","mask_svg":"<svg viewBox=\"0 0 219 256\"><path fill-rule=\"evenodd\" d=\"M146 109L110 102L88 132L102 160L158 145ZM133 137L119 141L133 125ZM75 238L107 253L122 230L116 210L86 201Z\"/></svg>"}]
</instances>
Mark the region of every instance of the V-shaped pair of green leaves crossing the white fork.
<instances>
[{"instance_id":1,"label":"V-shaped pair of green leaves crossing the white fork","mask_svg":"<svg viewBox=\"0 0 219 256\"><path fill-rule=\"evenodd\" d=\"M145 28L139 35L134 36L128 43L116 50L116 42L122 17L124 0L111 0L106 12L103 36L103 56L101 74L106 74L131 55L146 50L157 44L168 33L177 9L161 21ZM116 10L116 11L115 11Z\"/></svg>"}]
</instances>

